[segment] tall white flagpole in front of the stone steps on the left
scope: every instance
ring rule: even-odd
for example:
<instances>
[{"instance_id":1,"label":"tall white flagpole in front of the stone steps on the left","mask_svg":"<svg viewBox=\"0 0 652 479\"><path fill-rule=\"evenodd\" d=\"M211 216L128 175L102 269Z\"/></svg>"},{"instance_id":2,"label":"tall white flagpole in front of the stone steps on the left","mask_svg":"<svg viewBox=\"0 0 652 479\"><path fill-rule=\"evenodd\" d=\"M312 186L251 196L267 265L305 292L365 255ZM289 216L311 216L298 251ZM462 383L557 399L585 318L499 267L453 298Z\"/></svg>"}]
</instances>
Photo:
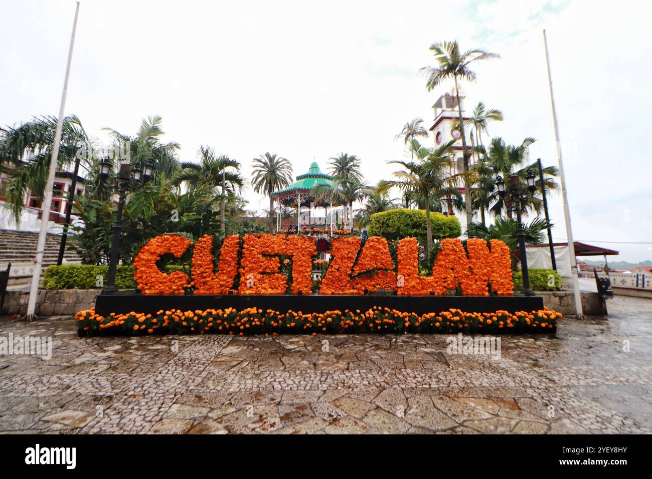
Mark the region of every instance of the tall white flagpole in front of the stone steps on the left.
<instances>
[{"instance_id":1,"label":"tall white flagpole in front of the stone steps on the left","mask_svg":"<svg viewBox=\"0 0 652 479\"><path fill-rule=\"evenodd\" d=\"M32 283L29 288L29 302L27 303L27 315L25 319L31 320L35 317L38 297L38 282L43 265L43 252L45 250L45 239L48 233L48 220L50 220L50 207L52 207L52 188L54 186L54 175L57 171L57 161L59 160L59 143L61 142L61 129L63 128L63 111L66 105L66 94L68 93L68 77L70 76L70 63L72 63L72 47L75 43L75 32L77 31L77 17L80 12L80 3L77 2L75 9L75 20L72 23L72 36L70 37L70 50L68 51L68 65L66 66L66 78L63 82L63 94L61 94L61 108L57 118L57 130L54 134L54 144L52 145L52 158L50 158L50 171L48 182L45 187L45 197L41 208L41 224L38 232L37 255L34 260L34 272Z\"/></svg>"}]
</instances>

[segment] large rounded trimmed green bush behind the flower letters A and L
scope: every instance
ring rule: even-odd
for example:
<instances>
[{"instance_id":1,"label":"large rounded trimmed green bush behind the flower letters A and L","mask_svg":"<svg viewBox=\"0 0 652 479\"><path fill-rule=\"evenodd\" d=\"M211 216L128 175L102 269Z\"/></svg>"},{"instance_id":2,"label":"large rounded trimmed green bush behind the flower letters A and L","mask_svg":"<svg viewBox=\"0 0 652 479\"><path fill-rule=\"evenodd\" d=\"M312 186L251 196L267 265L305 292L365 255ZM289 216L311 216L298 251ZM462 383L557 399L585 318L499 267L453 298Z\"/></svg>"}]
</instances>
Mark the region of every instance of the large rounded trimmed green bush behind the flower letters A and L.
<instances>
[{"instance_id":1,"label":"large rounded trimmed green bush behind the flower letters A and L","mask_svg":"<svg viewBox=\"0 0 652 479\"><path fill-rule=\"evenodd\" d=\"M457 238L462 235L460 222L454 216L430 213L432 237L437 239ZM416 237L426 239L425 210L394 209L371 215L369 236L381 236L388 240Z\"/></svg>"}]
</instances>

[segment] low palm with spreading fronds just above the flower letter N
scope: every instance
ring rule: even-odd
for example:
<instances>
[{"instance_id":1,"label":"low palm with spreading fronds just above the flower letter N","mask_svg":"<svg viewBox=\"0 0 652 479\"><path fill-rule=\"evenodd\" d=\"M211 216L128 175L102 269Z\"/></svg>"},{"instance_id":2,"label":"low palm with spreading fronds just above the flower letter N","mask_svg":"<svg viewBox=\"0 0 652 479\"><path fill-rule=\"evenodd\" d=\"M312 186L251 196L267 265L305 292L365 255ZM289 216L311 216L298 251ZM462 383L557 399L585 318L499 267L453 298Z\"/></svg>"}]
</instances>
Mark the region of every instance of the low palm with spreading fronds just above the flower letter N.
<instances>
[{"instance_id":1,"label":"low palm with spreading fronds just above the flower letter N","mask_svg":"<svg viewBox=\"0 0 652 479\"><path fill-rule=\"evenodd\" d=\"M552 227L545 218L534 218L529 224L523 225L526 244L541 244L544 242L544 230ZM481 238L484 240L499 239L507 244L512 257L512 269L516 269L516 255L518 250L518 223L514 218L498 216L496 222L489 227L481 223L469 224L466 234L469 238Z\"/></svg>"}]
</instances>

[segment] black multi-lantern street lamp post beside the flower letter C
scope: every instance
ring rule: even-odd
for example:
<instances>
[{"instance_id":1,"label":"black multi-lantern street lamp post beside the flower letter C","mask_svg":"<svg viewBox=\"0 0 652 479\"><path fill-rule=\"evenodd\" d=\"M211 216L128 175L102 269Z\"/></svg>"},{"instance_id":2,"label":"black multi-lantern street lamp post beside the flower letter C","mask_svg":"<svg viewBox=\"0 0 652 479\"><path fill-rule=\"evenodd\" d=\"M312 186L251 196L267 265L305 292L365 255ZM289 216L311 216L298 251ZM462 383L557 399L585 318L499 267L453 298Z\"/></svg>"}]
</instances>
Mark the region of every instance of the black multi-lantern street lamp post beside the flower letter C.
<instances>
[{"instance_id":1,"label":"black multi-lantern street lamp post beside the flower letter C","mask_svg":"<svg viewBox=\"0 0 652 479\"><path fill-rule=\"evenodd\" d=\"M111 164L109 162L100 163L100 179L108 178ZM110 295L117 292L115 287L115 270L118 265L120 255L120 235L122 234L122 214L125 207L125 194L128 186L132 182L148 181L151 177L153 166L145 165L143 171L139 167L132 168L130 164L121 164L118 173L118 209L115 212L115 223L113 223L113 240L111 241L111 255L109 257L109 273L106 278L106 286L102 289L103 295Z\"/></svg>"}]
</instances>

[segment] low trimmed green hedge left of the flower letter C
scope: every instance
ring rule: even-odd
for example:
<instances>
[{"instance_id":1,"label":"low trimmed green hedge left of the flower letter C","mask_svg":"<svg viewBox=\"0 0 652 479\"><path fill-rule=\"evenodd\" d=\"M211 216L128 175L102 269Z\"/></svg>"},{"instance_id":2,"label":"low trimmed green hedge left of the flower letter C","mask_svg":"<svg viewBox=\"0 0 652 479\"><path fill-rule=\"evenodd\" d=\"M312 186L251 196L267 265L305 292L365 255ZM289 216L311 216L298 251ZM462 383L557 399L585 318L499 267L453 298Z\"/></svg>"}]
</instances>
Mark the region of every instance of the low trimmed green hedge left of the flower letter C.
<instances>
[{"instance_id":1,"label":"low trimmed green hedge left of the flower letter C","mask_svg":"<svg viewBox=\"0 0 652 479\"><path fill-rule=\"evenodd\" d=\"M43 286L47 289L95 289L98 274L102 275L106 285L108 266L95 265L61 265L50 266L45 270ZM118 266L115 270L115 287L118 289L134 289L138 285L134 280L134 267Z\"/></svg>"}]
</instances>

